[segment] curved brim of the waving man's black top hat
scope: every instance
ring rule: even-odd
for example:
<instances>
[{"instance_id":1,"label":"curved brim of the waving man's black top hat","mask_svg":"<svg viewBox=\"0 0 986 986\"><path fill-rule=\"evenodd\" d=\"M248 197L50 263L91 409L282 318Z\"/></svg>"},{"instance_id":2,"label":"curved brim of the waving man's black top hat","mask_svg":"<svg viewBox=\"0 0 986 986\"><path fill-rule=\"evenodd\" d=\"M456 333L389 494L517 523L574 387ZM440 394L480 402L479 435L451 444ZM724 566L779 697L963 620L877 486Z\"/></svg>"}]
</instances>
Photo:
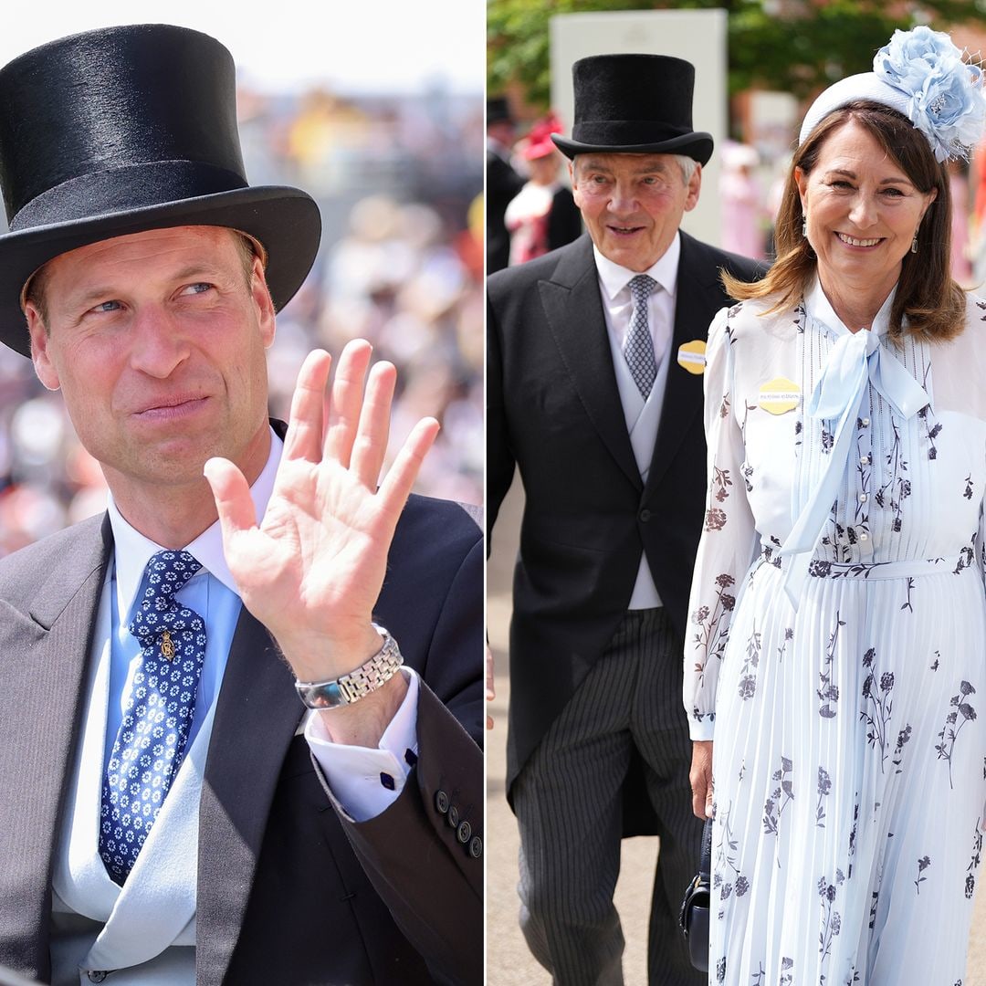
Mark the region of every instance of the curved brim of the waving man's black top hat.
<instances>
[{"instance_id":1,"label":"curved brim of the waving man's black top hat","mask_svg":"<svg viewBox=\"0 0 986 986\"><path fill-rule=\"evenodd\" d=\"M278 311L302 286L321 237L313 198L281 185L236 188L7 233L0 236L0 341L31 355L21 292L49 260L80 246L176 226L227 227L258 241L267 251L267 286Z\"/></svg>"}]
</instances>

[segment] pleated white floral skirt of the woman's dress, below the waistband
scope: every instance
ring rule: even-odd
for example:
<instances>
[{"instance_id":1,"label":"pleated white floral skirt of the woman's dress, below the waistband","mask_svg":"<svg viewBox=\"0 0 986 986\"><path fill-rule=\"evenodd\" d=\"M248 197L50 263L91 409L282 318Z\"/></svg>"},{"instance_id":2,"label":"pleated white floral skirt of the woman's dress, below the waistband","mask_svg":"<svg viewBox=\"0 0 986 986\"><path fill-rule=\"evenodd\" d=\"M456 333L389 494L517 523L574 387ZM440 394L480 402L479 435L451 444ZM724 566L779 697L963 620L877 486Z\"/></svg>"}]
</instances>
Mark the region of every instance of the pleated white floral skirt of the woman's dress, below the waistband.
<instances>
[{"instance_id":1,"label":"pleated white floral skirt of the woman's dress, below the waistband","mask_svg":"<svg viewBox=\"0 0 986 986\"><path fill-rule=\"evenodd\" d=\"M956 986L986 804L975 565L748 577L720 672L710 983ZM899 571L897 569L896 571Z\"/></svg>"}]
</instances>

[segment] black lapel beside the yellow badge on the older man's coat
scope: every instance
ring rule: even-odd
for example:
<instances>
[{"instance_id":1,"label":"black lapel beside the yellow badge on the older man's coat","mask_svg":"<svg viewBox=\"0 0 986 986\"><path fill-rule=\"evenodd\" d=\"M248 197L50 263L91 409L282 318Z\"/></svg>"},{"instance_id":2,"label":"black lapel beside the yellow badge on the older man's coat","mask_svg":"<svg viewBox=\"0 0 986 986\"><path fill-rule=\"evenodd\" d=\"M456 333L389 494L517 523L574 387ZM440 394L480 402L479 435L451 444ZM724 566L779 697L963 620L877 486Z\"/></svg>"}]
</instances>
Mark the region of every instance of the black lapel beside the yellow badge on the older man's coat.
<instances>
[{"instance_id":1,"label":"black lapel beside the yellow badge on the older man's coat","mask_svg":"<svg viewBox=\"0 0 986 986\"><path fill-rule=\"evenodd\" d=\"M711 268L707 262L700 262L697 256L699 245L696 241L685 233L680 236L681 257L678 260L674 331L668 353L671 363L665 400L661 408L661 426L654 445L651 471L647 477L649 491L656 488L668 473L684 436L691 429L696 417L702 413L703 378L690 374L677 365L678 347L693 339L704 342L716 312L727 304L719 283L718 270ZM699 451L693 450L695 453Z\"/></svg>"}]
</instances>

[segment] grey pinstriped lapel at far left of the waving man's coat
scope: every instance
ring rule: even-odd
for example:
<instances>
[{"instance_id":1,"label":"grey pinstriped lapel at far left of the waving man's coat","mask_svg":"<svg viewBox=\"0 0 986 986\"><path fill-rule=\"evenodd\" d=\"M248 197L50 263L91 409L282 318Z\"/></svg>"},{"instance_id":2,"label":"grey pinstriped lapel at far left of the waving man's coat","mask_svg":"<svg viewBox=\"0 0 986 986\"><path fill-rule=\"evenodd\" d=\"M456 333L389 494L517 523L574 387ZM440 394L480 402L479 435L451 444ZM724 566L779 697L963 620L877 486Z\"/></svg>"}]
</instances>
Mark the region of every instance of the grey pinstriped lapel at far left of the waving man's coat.
<instances>
[{"instance_id":1,"label":"grey pinstriped lapel at far left of the waving man's coat","mask_svg":"<svg viewBox=\"0 0 986 986\"><path fill-rule=\"evenodd\" d=\"M51 868L111 544L93 519L39 556L27 611L0 603L0 962L48 976Z\"/></svg>"}]
</instances>

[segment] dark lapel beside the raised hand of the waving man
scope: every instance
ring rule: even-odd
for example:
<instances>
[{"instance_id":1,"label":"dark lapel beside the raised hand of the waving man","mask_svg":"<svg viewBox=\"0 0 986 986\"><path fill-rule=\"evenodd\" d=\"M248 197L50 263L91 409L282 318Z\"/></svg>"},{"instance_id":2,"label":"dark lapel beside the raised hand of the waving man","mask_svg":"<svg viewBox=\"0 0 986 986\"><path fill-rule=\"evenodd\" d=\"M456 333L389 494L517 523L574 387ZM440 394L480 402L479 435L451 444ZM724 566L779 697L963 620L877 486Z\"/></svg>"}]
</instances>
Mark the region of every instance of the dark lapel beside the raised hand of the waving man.
<instances>
[{"instance_id":1,"label":"dark lapel beside the raised hand of the waving man","mask_svg":"<svg viewBox=\"0 0 986 986\"><path fill-rule=\"evenodd\" d=\"M240 936L274 791L305 711L246 607L216 702L199 806L196 982L218 986Z\"/></svg>"}]
</instances>

